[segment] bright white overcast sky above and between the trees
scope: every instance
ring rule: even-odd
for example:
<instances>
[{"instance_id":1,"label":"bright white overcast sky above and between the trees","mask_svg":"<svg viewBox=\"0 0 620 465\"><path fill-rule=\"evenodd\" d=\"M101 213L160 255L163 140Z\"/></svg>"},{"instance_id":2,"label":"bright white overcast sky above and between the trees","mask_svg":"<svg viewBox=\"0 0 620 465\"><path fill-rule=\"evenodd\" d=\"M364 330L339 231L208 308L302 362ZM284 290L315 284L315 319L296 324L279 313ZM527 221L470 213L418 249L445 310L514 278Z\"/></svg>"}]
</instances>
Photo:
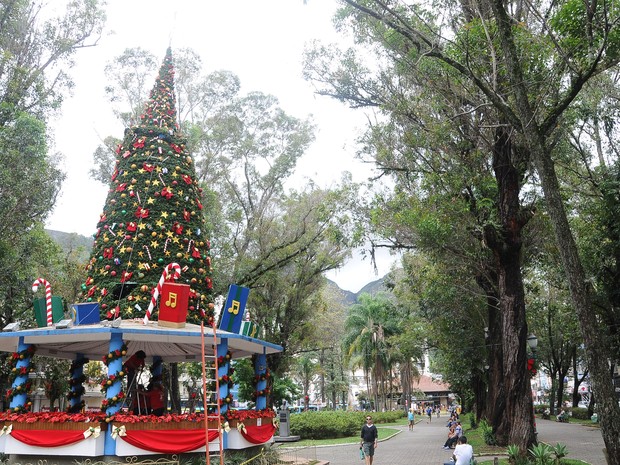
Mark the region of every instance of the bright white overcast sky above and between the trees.
<instances>
[{"instance_id":1,"label":"bright white overcast sky above and between the trees","mask_svg":"<svg viewBox=\"0 0 620 465\"><path fill-rule=\"evenodd\" d=\"M92 154L109 136L122 137L124 127L112 115L104 94L104 67L126 48L142 47L160 62L168 46L191 47L202 58L203 74L228 70L239 76L243 92L278 97L289 114L312 115L316 142L302 157L298 173L329 187L345 171L365 181L371 168L355 159L355 137L365 115L314 93L302 78L302 52L312 40L324 43L346 38L336 33L331 18L335 0L111 0L107 25L96 47L80 50L70 70L72 96L52 122L55 149L64 155L67 179L49 229L92 235L103 210L108 186L89 178ZM155 76L153 76L153 83ZM394 258L380 253L375 274L359 253L336 272L327 274L341 288L357 292L387 273Z\"/></svg>"}]
</instances>

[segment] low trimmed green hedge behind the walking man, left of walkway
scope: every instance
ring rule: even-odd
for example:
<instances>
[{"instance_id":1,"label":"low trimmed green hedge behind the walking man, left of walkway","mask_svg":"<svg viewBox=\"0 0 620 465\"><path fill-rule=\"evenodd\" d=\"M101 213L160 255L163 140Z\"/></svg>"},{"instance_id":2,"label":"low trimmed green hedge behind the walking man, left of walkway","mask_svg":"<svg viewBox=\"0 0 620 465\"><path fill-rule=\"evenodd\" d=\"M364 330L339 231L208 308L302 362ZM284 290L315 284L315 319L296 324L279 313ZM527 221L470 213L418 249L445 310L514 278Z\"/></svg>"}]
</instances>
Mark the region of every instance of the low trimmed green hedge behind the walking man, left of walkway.
<instances>
[{"instance_id":1,"label":"low trimmed green hedge behind the walking man, left of walkway","mask_svg":"<svg viewBox=\"0 0 620 465\"><path fill-rule=\"evenodd\" d=\"M326 410L290 416L291 434L302 439L328 439L359 436L368 412ZM402 410L372 412L373 423L393 423L405 416Z\"/></svg>"}]
</instances>

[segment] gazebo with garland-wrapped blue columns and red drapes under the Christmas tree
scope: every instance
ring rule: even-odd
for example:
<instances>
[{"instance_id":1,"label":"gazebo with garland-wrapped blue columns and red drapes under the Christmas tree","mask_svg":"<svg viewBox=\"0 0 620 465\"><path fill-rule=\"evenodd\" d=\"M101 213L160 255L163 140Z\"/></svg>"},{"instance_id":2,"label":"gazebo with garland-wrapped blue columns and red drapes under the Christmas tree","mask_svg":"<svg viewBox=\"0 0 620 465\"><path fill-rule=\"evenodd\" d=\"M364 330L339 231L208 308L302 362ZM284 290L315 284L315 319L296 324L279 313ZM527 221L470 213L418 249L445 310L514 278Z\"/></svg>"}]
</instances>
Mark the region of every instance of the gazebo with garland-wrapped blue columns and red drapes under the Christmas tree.
<instances>
[{"instance_id":1,"label":"gazebo with garland-wrapped blue columns and red drapes under the Christmas tree","mask_svg":"<svg viewBox=\"0 0 620 465\"><path fill-rule=\"evenodd\" d=\"M272 441L275 414L266 408L266 356L281 347L243 334L187 324L181 328L144 324L142 320L122 320L114 327L99 324L27 329L0 333L0 350L13 352L14 372L11 410L1 419L0 452L27 456L138 456L216 452L245 449ZM124 394L120 378L123 357L144 351L147 362L200 362L218 359L220 381L227 381L230 361L257 354L256 409L233 411L227 382L219 384L222 415L186 414L176 416L125 415L120 410ZM205 350L207 353L205 353ZM108 384L101 413L43 414L28 412L26 391L28 366L34 353L69 359L74 363L72 379L80 380L85 360L107 359ZM82 377L83 379L83 377ZM262 385L261 385L262 383ZM20 388L20 386L22 386ZM72 383L75 393L83 392ZM262 394L262 395L261 395ZM72 405L79 405L79 395Z\"/></svg>"}]
</instances>

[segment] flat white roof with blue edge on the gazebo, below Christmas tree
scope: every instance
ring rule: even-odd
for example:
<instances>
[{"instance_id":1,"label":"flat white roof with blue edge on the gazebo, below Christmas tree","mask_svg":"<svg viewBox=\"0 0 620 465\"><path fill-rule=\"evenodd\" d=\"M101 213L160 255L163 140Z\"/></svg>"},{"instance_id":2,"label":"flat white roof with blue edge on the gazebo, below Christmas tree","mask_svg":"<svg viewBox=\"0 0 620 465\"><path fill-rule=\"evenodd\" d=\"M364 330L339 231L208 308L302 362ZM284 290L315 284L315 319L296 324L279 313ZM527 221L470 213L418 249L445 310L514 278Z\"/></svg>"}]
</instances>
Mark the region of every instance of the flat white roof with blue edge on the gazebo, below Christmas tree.
<instances>
[{"instance_id":1,"label":"flat white roof with blue edge on the gazebo, below Christmas tree","mask_svg":"<svg viewBox=\"0 0 620 465\"><path fill-rule=\"evenodd\" d=\"M282 351L279 345L242 334L216 331L215 342L211 328L205 328L204 333L205 353L209 355L213 355L211 347L222 339L228 339L228 349L233 359ZM160 356L165 362L198 362L202 356L200 326L187 324L184 328L168 328L159 326L157 322L144 325L141 320L123 320L118 328L95 324L3 332L0 333L0 351L16 351L19 338L23 338L25 344L36 345L37 355L74 360L77 354L82 354L91 360L101 360L110 351L113 334L122 334L128 355L143 350L147 358Z\"/></svg>"}]
</instances>

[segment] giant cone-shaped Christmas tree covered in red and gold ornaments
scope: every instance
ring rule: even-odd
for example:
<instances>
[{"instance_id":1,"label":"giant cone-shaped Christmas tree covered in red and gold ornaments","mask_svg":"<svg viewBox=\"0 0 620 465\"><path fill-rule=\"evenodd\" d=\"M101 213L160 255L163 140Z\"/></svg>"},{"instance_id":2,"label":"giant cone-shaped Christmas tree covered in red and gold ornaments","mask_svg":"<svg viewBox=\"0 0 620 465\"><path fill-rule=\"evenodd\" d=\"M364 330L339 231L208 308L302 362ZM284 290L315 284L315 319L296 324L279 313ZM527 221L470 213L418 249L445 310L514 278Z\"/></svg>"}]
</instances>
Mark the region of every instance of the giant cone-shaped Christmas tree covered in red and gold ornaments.
<instances>
[{"instance_id":1,"label":"giant cone-shaped Christmas tree covered in red and gold ornaments","mask_svg":"<svg viewBox=\"0 0 620 465\"><path fill-rule=\"evenodd\" d=\"M82 284L84 301L99 302L102 318L144 317L163 270L177 263L177 282L190 285L187 321L212 323L210 244L201 191L177 123L168 49L140 124L125 130L117 148Z\"/></svg>"}]
</instances>

